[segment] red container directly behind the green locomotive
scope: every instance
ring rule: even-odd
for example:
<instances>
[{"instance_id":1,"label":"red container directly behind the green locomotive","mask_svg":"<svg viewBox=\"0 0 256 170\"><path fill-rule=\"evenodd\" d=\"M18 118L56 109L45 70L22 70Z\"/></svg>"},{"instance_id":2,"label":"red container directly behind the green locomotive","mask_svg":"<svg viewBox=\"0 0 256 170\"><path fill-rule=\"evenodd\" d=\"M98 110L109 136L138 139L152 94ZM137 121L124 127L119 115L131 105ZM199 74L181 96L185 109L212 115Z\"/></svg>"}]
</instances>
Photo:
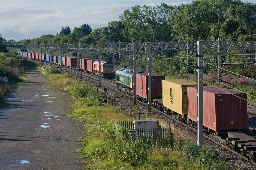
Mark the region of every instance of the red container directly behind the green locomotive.
<instances>
[{"instance_id":1,"label":"red container directly behind the green locomotive","mask_svg":"<svg viewBox=\"0 0 256 170\"><path fill-rule=\"evenodd\" d=\"M162 80L164 75L151 73L151 98L162 98ZM148 99L148 73L136 73L136 94Z\"/></svg>"}]
</instances>

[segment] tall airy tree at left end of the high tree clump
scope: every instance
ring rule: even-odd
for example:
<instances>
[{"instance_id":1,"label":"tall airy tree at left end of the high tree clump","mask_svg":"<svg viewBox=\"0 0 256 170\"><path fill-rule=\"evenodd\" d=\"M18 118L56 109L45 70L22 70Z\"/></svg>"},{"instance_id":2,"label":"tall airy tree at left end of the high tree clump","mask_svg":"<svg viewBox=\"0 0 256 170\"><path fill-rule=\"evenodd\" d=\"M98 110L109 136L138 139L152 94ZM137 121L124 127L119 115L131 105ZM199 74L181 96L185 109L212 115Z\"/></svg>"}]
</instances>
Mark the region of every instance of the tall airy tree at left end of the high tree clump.
<instances>
[{"instance_id":1,"label":"tall airy tree at left end of the high tree clump","mask_svg":"<svg viewBox=\"0 0 256 170\"><path fill-rule=\"evenodd\" d=\"M153 7L136 5L125 10L120 16L126 29L124 36L131 41L169 41L172 28L167 18L171 9L171 6L161 4Z\"/></svg>"}]
</instances>

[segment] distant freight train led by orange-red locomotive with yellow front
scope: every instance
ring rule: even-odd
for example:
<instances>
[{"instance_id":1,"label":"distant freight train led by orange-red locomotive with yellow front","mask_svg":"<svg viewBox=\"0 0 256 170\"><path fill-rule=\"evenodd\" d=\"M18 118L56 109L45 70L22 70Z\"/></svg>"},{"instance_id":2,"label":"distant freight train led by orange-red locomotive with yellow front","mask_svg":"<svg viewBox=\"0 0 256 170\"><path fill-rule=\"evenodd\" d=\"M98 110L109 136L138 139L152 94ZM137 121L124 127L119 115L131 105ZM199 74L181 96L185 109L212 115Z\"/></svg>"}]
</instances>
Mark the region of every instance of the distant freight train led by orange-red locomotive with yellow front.
<instances>
[{"instance_id":1,"label":"distant freight train led by orange-red locomotive with yellow front","mask_svg":"<svg viewBox=\"0 0 256 170\"><path fill-rule=\"evenodd\" d=\"M77 69L77 57L57 56L44 53L41 55L41 53L28 52L20 52L20 55L32 60L42 60L44 62L54 63L62 66L67 65L69 68ZM99 64L99 60L80 59L78 64L80 65L80 70L97 76L99 75L99 65L101 65L101 77L104 78L111 78L114 71L113 64L107 61L101 61Z\"/></svg>"}]
</instances>

